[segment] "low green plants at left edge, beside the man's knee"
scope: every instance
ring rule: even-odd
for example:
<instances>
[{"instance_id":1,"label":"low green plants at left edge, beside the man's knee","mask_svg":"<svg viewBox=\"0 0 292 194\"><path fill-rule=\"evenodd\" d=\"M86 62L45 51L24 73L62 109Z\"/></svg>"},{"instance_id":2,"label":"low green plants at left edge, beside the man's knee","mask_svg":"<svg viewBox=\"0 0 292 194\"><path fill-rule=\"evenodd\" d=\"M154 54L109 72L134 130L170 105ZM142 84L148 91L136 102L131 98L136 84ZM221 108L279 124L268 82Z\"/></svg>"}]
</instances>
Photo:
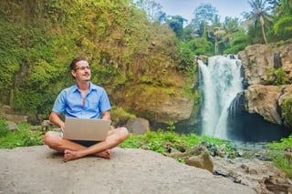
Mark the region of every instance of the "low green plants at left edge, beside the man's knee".
<instances>
[{"instance_id":1,"label":"low green plants at left edge, beside the man's knee","mask_svg":"<svg viewBox=\"0 0 292 194\"><path fill-rule=\"evenodd\" d=\"M5 125L5 128L3 128ZM0 120L0 148L16 148L37 146L43 144L41 128L30 130L28 124L18 125L18 130L10 131L7 129L5 120ZM5 133L3 133L5 131Z\"/></svg>"}]
</instances>

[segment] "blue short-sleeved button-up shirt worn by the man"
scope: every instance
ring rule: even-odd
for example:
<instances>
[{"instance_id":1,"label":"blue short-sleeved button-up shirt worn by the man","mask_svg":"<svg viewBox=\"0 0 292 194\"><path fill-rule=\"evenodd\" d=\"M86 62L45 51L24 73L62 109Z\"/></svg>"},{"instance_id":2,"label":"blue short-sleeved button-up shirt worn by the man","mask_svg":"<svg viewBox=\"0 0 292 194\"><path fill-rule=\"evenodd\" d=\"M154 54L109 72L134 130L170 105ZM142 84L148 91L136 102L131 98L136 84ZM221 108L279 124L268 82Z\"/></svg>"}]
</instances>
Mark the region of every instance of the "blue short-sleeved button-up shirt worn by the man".
<instances>
[{"instance_id":1,"label":"blue short-sleeved button-up shirt worn by the man","mask_svg":"<svg viewBox=\"0 0 292 194\"><path fill-rule=\"evenodd\" d=\"M52 109L59 114L65 112L66 117L85 118L100 118L107 110L110 110L110 100L105 89L91 82L84 103L78 86L73 85L61 91Z\"/></svg>"}]
</instances>

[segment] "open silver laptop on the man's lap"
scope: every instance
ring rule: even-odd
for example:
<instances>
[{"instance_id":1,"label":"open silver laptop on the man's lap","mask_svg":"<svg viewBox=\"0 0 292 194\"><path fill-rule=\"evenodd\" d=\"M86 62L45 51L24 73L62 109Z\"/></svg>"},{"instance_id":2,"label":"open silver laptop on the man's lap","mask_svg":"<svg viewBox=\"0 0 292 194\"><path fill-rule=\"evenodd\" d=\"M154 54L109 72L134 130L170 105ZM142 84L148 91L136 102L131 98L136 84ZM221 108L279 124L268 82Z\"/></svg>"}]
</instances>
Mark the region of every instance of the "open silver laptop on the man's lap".
<instances>
[{"instance_id":1,"label":"open silver laptop on the man's lap","mask_svg":"<svg viewBox=\"0 0 292 194\"><path fill-rule=\"evenodd\" d=\"M63 138L102 141L108 136L110 122L96 118L66 117Z\"/></svg>"}]
</instances>

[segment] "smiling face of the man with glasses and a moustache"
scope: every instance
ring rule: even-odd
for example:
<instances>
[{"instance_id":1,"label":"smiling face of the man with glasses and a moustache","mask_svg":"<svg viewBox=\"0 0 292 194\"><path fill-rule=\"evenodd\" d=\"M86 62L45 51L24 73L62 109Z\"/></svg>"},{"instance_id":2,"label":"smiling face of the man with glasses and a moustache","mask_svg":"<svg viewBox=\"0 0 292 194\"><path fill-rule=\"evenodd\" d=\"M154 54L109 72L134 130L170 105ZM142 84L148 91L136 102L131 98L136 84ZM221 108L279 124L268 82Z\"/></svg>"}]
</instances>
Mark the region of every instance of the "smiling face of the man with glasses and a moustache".
<instances>
[{"instance_id":1,"label":"smiling face of the man with glasses and a moustache","mask_svg":"<svg viewBox=\"0 0 292 194\"><path fill-rule=\"evenodd\" d=\"M91 77L89 63L78 61L75 69L71 70L71 74L77 81L89 81Z\"/></svg>"}]
</instances>

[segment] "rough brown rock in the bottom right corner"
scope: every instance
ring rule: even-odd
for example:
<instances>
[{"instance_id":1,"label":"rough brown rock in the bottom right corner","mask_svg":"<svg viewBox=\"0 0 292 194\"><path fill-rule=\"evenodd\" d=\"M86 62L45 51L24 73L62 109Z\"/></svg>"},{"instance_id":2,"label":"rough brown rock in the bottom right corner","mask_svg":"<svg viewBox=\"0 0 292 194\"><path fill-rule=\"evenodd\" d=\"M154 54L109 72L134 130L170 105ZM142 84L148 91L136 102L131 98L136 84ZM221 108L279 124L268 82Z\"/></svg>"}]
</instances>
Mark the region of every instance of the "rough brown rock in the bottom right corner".
<instances>
[{"instance_id":1,"label":"rough brown rock in the bottom right corner","mask_svg":"<svg viewBox=\"0 0 292 194\"><path fill-rule=\"evenodd\" d=\"M269 161L214 158L214 171L234 182L255 189L257 193L291 193L292 181ZM227 176L225 176L227 175Z\"/></svg>"}]
</instances>

